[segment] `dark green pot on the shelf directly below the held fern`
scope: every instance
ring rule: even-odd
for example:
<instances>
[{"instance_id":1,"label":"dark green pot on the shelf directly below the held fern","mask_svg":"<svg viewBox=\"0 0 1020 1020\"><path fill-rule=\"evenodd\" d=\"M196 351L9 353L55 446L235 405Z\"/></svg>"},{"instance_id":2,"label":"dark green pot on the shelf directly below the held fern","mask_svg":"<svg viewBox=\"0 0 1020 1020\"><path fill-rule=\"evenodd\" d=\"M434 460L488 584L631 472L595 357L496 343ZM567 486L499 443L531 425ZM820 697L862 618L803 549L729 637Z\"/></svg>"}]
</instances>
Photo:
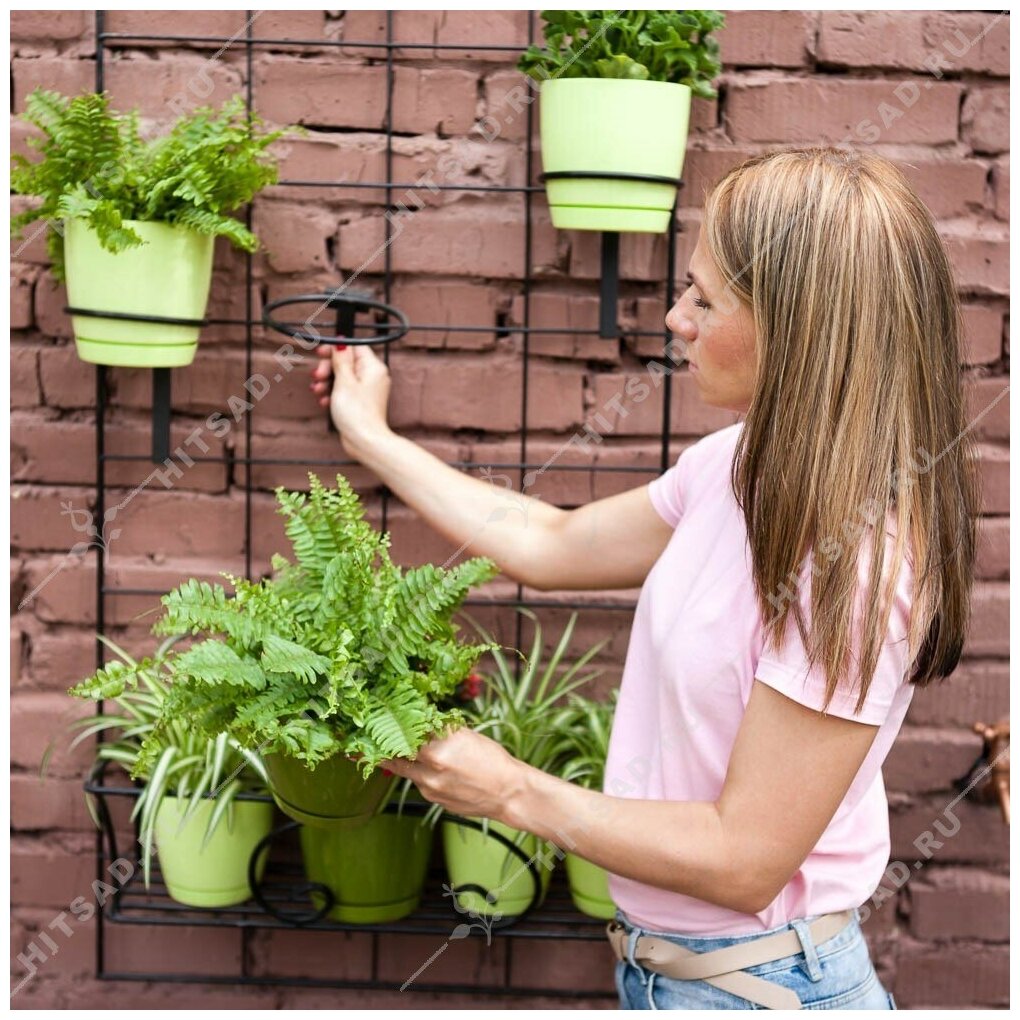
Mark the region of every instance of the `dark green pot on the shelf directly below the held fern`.
<instances>
[{"instance_id":1,"label":"dark green pot on the shelf directly below the held fern","mask_svg":"<svg viewBox=\"0 0 1020 1020\"><path fill-rule=\"evenodd\" d=\"M432 849L432 828L417 815L376 815L357 828L301 827L309 881L328 885L329 917L349 924L381 924L414 913ZM312 896L321 902L321 896Z\"/></svg>"}]
</instances>

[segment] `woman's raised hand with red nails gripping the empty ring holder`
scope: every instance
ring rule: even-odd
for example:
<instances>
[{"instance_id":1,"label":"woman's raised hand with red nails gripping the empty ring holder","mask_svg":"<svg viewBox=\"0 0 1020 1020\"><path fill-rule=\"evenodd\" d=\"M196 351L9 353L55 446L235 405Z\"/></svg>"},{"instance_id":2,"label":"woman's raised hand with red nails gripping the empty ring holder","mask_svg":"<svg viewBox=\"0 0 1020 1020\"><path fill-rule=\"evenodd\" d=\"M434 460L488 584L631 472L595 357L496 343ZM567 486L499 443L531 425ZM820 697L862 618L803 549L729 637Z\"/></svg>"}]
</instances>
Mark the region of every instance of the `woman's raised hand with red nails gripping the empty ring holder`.
<instances>
[{"instance_id":1,"label":"woman's raised hand with red nails gripping the empty ring holder","mask_svg":"<svg viewBox=\"0 0 1020 1020\"><path fill-rule=\"evenodd\" d=\"M311 390L319 404L329 408L344 452L359 459L360 443L390 430L387 422L390 369L365 344L350 347L320 344L315 353L318 360L312 368Z\"/></svg>"}]
</instances>

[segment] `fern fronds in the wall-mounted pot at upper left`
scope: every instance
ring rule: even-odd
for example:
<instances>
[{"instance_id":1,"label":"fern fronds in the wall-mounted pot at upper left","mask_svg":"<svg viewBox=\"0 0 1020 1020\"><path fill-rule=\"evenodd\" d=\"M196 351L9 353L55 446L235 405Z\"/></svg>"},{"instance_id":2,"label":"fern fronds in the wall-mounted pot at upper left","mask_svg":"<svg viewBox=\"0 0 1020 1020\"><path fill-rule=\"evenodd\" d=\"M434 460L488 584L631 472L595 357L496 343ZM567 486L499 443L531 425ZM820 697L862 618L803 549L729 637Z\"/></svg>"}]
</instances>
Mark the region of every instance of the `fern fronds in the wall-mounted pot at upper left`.
<instances>
[{"instance_id":1,"label":"fern fronds in the wall-mounted pot at upper left","mask_svg":"<svg viewBox=\"0 0 1020 1020\"><path fill-rule=\"evenodd\" d=\"M241 96L218 112L196 109L148 141L140 134L138 111L112 112L105 92L68 99L36 89L26 100L23 119L43 133L29 139L42 159L14 155L11 190L43 201L11 218L11 235L38 219L83 219L110 252L144 244L124 220L186 226L255 251L258 239L227 213L275 183L276 161L266 149L301 131L263 131ZM49 232L47 248L54 276L63 279L62 231Z\"/></svg>"}]
</instances>

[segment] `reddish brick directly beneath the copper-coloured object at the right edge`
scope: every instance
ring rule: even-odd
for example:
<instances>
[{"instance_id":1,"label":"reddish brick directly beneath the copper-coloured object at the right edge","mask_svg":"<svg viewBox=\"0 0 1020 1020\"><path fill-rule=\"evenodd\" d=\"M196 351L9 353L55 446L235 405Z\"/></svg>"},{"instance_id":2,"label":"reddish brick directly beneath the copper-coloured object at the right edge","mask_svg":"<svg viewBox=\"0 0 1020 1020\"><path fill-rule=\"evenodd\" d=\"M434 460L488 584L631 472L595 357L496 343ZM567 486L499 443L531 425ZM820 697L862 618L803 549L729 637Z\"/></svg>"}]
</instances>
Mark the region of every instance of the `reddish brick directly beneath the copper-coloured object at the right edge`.
<instances>
[{"instance_id":1,"label":"reddish brick directly beneath the copper-coloured object at the right edge","mask_svg":"<svg viewBox=\"0 0 1020 1020\"><path fill-rule=\"evenodd\" d=\"M1010 833L998 808L968 798L951 807L956 797L937 794L923 804L894 807L889 816L890 859L903 861L914 872L929 862L942 867L1005 861ZM915 867L916 862L920 868Z\"/></svg>"}]
</instances>

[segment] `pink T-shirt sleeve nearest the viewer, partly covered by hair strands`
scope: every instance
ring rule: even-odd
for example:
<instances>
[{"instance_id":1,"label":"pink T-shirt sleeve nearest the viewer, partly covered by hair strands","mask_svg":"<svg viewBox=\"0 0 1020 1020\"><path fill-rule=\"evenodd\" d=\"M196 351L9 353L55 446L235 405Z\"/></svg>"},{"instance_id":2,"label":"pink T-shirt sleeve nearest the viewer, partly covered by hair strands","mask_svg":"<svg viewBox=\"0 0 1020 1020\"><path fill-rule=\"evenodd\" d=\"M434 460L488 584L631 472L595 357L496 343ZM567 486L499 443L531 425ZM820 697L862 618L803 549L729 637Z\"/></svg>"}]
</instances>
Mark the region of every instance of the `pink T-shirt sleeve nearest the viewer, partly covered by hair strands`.
<instances>
[{"instance_id":1,"label":"pink T-shirt sleeve nearest the viewer, partly covered by hair strands","mask_svg":"<svg viewBox=\"0 0 1020 1020\"><path fill-rule=\"evenodd\" d=\"M891 568L892 545L886 541L885 574L880 582L879 597L888 579L888 569ZM811 621L811 555L808 557L809 573L802 579L799 588L802 612L805 625L810 628ZM855 604L854 631L851 640L851 662L860 661L862 638L861 623L866 608L868 591L868 573L870 571L870 543L862 545L860 566L858 569L857 601ZM910 669L908 653L908 635L910 627L910 608L913 596L913 572L908 561L905 561L897 583L889 613L888 629L882 641L875 673L871 678L868 696L860 713L856 713L857 699L860 693L859 678L853 672L840 682L829 702L825 712L843 719L864 722L880 726L888 717L897 695L904 683L908 682L907 673ZM809 630L810 632L810 630ZM853 665L851 667L853 670ZM801 641L801 633L793 612L787 613L786 631L782 648L768 654L763 654L755 669L755 677L770 687L785 695L787 698L806 705L808 708L822 711L825 702L825 670L816 662L808 669L808 655Z\"/></svg>"}]
</instances>

